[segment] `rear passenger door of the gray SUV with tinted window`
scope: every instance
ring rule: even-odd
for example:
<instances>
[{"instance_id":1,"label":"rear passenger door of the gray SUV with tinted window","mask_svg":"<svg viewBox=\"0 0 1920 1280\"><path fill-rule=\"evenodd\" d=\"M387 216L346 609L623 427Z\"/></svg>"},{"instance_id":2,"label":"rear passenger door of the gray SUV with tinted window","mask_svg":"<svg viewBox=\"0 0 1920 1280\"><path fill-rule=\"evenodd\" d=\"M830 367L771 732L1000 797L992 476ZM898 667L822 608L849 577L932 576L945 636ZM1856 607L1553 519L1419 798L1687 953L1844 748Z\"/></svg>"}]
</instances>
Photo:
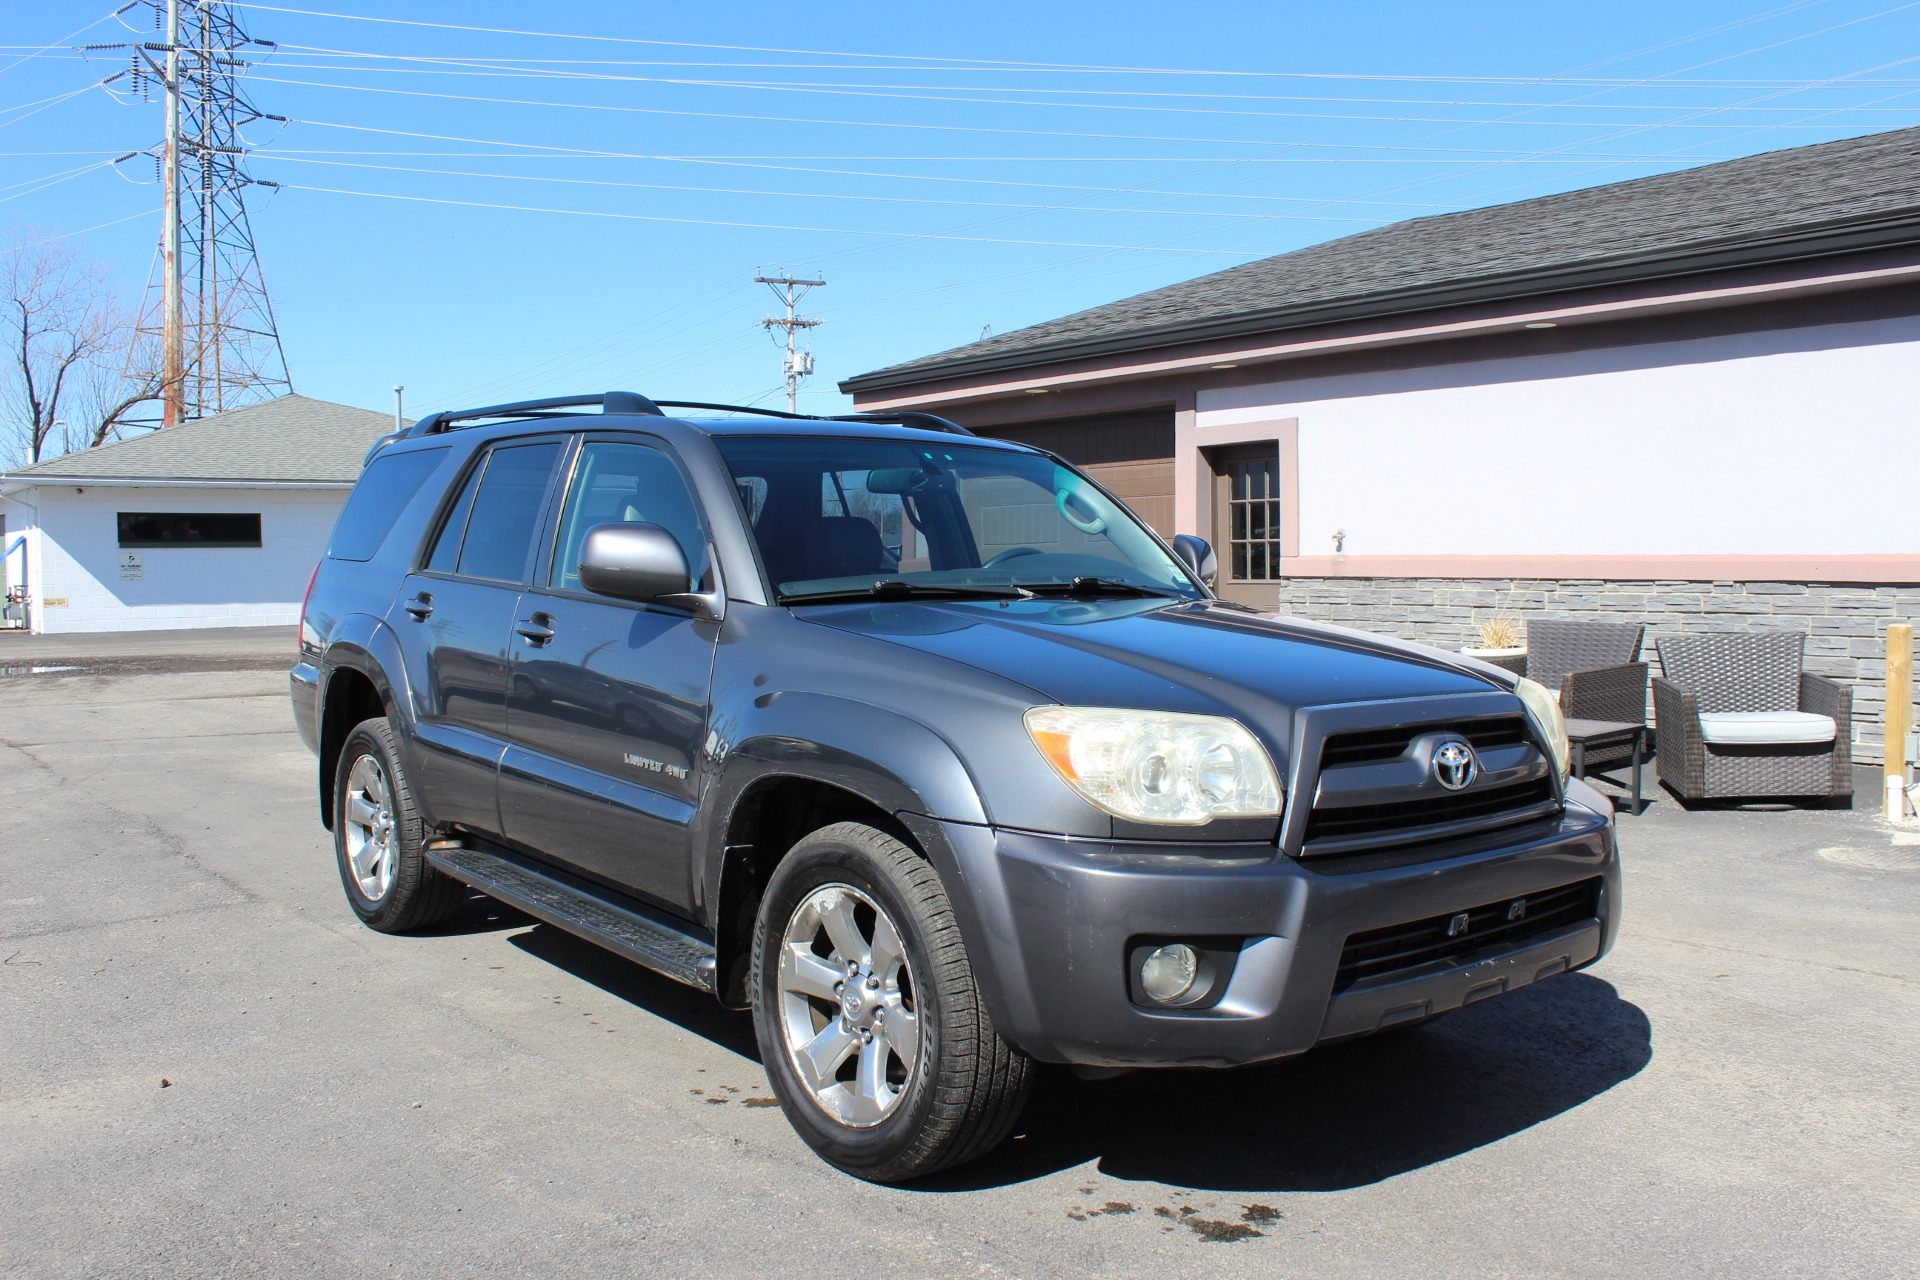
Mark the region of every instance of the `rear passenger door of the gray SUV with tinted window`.
<instances>
[{"instance_id":1,"label":"rear passenger door of the gray SUV with tinted window","mask_svg":"<svg viewBox=\"0 0 1920 1280\"><path fill-rule=\"evenodd\" d=\"M480 453L388 618L415 697L413 771L438 823L501 829L509 641L564 445L543 438Z\"/></svg>"}]
</instances>

